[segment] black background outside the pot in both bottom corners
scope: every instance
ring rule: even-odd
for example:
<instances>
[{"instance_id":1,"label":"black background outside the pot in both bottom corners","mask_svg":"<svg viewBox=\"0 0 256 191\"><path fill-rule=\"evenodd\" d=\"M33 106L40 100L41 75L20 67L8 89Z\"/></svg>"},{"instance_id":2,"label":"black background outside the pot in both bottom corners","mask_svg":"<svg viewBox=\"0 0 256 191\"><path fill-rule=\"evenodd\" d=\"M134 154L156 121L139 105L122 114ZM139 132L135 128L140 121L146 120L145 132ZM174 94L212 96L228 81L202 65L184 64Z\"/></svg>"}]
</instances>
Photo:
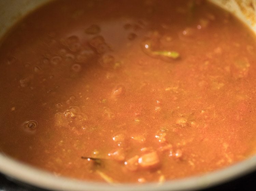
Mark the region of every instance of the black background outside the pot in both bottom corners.
<instances>
[{"instance_id":1,"label":"black background outside the pot in both bottom corners","mask_svg":"<svg viewBox=\"0 0 256 191\"><path fill-rule=\"evenodd\" d=\"M228 183L204 189L200 191L237 191L237 190L256 190L256 172L232 180ZM0 191L46 191L35 188L29 185L21 185L14 183L11 179L7 179L3 174L0 174Z\"/></svg>"}]
</instances>

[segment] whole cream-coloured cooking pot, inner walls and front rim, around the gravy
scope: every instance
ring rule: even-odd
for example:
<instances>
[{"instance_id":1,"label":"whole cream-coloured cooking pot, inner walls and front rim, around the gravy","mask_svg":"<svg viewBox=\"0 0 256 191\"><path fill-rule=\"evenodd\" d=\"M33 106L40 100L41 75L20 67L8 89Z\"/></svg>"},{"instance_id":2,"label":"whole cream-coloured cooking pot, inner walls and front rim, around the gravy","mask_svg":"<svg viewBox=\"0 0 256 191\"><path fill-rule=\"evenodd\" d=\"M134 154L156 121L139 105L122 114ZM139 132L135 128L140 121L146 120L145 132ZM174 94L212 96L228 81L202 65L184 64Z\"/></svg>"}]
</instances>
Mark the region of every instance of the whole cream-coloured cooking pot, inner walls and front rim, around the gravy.
<instances>
[{"instance_id":1,"label":"whole cream-coloured cooking pot, inner walls and front rim, around the gravy","mask_svg":"<svg viewBox=\"0 0 256 191\"><path fill-rule=\"evenodd\" d=\"M0 38L26 14L50 0L0 0ZM256 32L256 0L210 0L232 12ZM1 135L0 135L1 136ZM71 178L58 177L35 169L0 153L0 172L15 180L50 190L195 190L208 188L243 176L256 170L256 156L236 163L225 169L208 174L166 181L163 184L115 184L92 183Z\"/></svg>"}]
</instances>

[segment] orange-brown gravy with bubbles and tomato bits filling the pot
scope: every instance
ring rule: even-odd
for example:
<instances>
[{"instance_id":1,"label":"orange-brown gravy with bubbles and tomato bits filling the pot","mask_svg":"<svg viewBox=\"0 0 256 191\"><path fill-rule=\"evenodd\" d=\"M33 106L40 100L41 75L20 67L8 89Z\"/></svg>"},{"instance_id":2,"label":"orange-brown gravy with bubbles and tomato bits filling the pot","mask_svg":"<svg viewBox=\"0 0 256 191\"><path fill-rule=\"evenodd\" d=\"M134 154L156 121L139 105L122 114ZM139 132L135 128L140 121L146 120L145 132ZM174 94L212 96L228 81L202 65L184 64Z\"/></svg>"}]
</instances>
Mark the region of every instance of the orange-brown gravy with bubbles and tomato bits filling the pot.
<instances>
[{"instance_id":1,"label":"orange-brown gravy with bubbles and tomato bits filling the pot","mask_svg":"<svg viewBox=\"0 0 256 191\"><path fill-rule=\"evenodd\" d=\"M0 47L0 149L56 176L145 183L255 153L255 35L207 1L54 1Z\"/></svg>"}]
</instances>

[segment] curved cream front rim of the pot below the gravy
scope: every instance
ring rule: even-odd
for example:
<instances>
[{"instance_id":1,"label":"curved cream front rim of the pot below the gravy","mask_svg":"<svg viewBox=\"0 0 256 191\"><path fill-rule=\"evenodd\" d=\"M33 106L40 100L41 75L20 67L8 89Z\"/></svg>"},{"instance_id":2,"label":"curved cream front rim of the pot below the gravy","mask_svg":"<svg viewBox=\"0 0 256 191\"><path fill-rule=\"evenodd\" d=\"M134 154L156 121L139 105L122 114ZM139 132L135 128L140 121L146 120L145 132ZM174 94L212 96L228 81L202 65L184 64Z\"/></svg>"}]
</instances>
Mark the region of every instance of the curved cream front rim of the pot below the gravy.
<instances>
[{"instance_id":1,"label":"curved cream front rim of the pot below the gravy","mask_svg":"<svg viewBox=\"0 0 256 191\"><path fill-rule=\"evenodd\" d=\"M25 163L14 160L0 153L0 171L5 175L22 181L32 186L50 190L94 190L94 191L171 191L171 190L195 190L209 188L231 179L238 178L256 170L256 156L233 164L227 168L216 170L207 174L188 178L168 180L165 183L145 184L108 184L101 182L89 182L56 176L52 173L36 169Z\"/></svg>"}]
</instances>

